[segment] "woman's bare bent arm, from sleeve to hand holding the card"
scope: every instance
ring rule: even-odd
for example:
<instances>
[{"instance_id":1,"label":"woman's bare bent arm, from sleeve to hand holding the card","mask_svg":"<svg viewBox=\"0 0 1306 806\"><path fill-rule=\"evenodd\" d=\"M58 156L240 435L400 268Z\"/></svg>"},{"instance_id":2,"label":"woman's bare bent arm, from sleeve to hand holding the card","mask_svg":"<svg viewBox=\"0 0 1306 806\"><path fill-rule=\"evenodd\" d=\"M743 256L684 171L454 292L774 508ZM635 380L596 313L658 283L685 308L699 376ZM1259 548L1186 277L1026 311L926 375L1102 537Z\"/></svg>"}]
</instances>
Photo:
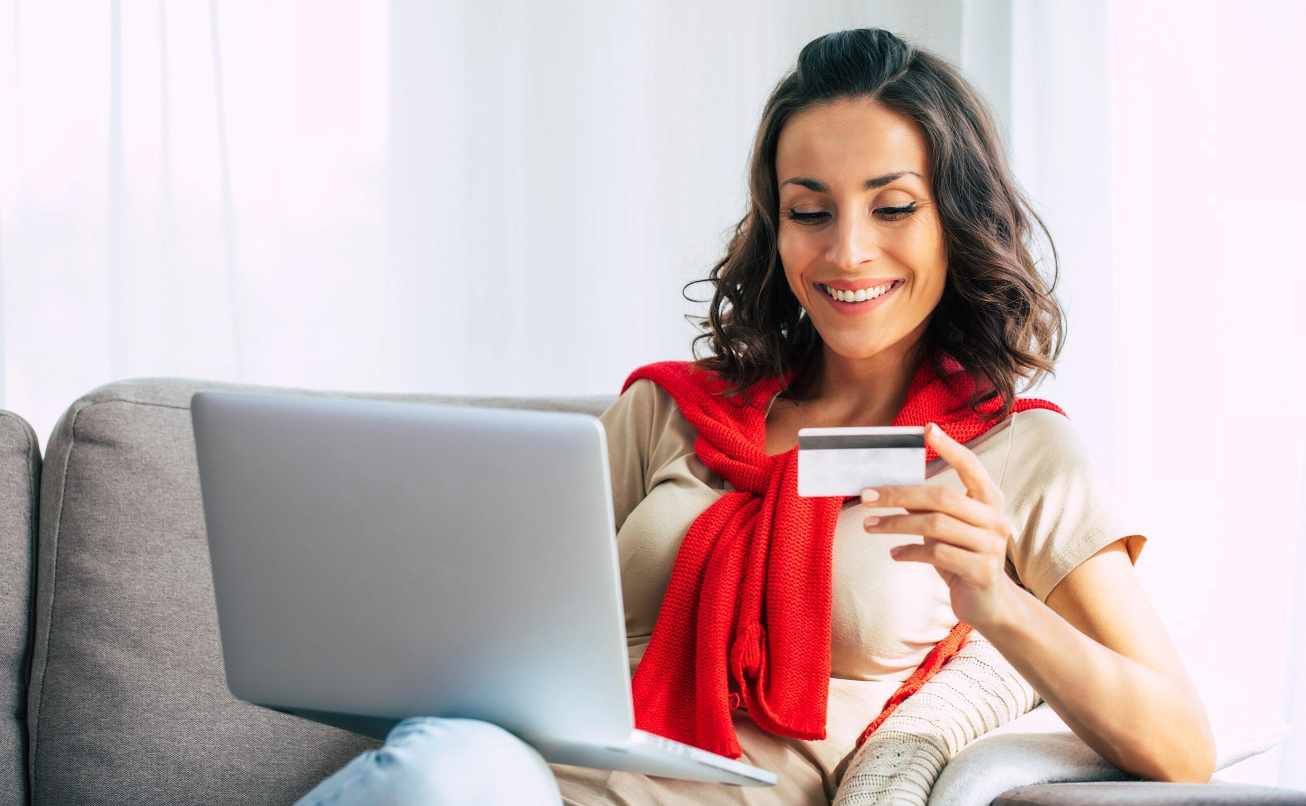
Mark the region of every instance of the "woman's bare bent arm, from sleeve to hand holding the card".
<instances>
[{"instance_id":1,"label":"woman's bare bent arm, from sleeve to hand holding the card","mask_svg":"<svg viewBox=\"0 0 1306 806\"><path fill-rule=\"evenodd\" d=\"M868 489L866 506L908 513L868 517L866 530L923 536L893 556L932 564L956 617L989 639L1102 758L1156 781L1209 781L1216 746L1205 707L1139 584L1123 537L1067 573L1043 604L1004 571L1012 525L998 485L940 428L927 428L926 439L957 470L966 495L934 485Z\"/></svg>"}]
</instances>

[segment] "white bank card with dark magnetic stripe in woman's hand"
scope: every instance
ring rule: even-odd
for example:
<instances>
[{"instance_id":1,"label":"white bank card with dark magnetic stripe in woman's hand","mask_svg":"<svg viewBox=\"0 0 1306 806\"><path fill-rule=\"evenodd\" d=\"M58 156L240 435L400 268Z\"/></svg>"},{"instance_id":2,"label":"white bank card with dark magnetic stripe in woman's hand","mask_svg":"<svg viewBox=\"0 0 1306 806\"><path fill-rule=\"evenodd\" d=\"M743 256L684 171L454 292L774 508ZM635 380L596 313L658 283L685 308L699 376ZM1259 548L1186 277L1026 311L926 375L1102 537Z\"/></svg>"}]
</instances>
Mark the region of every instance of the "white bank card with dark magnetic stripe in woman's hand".
<instances>
[{"instance_id":1,"label":"white bank card with dark magnetic stripe in woman's hand","mask_svg":"<svg viewBox=\"0 0 1306 806\"><path fill-rule=\"evenodd\" d=\"M925 426L798 428L798 495L925 483Z\"/></svg>"}]
</instances>

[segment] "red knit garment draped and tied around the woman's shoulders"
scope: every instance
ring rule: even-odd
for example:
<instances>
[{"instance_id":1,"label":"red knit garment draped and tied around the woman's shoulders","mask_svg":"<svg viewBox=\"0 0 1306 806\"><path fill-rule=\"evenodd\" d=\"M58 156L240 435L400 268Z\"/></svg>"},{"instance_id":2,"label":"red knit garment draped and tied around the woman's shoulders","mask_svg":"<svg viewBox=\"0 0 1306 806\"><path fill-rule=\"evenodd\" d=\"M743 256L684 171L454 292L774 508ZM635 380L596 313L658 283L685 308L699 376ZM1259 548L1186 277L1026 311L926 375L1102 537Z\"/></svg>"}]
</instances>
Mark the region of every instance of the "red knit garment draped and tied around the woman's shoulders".
<instances>
[{"instance_id":1,"label":"red knit garment draped and tied around the woman's shoulders","mask_svg":"<svg viewBox=\"0 0 1306 806\"><path fill-rule=\"evenodd\" d=\"M966 443L996 423L968 410L974 381L953 358L943 359L949 383L922 362L893 425L935 422ZM799 498L797 448L767 456L765 402L794 374L746 391L752 405L717 397L725 383L688 361L643 366L622 385L624 393L636 379L648 378L666 389L699 431L695 453L734 486L693 521L680 543L635 670L635 725L733 759L742 752L730 712L741 703L772 733L825 738L831 546L844 502L857 496ZM996 400L989 404L982 411L1000 406ZM1012 411L1034 408L1066 414L1038 398L1016 398ZM936 456L926 445L926 461ZM858 746L957 653L968 632L970 626L957 622L885 701Z\"/></svg>"}]
</instances>

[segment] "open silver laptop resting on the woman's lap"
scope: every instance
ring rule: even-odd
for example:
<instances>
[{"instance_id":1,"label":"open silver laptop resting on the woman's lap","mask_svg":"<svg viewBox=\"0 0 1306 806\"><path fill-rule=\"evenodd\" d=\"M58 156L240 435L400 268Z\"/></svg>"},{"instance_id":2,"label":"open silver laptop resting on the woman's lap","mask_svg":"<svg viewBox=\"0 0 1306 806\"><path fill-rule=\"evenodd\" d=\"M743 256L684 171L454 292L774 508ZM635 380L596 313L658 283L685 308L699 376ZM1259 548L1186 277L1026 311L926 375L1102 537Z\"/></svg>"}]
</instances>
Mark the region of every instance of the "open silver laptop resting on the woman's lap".
<instances>
[{"instance_id":1,"label":"open silver laptop resting on the woman's lap","mask_svg":"<svg viewBox=\"0 0 1306 806\"><path fill-rule=\"evenodd\" d=\"M218 391L191 415L238 699L376 738L465 717L552 763L777 781L635 728L597 417Z\"/></svg>"}]
</instances>

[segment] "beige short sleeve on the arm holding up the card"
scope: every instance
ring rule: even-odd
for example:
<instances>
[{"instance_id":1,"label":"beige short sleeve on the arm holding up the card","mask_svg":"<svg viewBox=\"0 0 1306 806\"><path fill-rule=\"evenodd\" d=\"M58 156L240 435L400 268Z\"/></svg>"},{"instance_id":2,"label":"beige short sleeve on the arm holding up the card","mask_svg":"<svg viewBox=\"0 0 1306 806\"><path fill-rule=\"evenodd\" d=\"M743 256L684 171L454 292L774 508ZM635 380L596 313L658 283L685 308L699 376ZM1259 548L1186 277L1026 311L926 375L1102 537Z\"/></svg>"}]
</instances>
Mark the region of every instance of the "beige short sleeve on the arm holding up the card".
<instances>
[{"instance_id":1,"label":"beige short sleeve on the arm holding up the card","mask_svg":"<svg viewBox=\"0 0 1306 806\"><path fill-rule=\"evenodd\" d=\"M1147 537L1115 490L1093 466L1074 422L1051 409L1012 417L1015 431L1002 474L1008 572L1038 601L1085 559L1121 538L1138 564Z\"/></svg>"}]
</instances>

